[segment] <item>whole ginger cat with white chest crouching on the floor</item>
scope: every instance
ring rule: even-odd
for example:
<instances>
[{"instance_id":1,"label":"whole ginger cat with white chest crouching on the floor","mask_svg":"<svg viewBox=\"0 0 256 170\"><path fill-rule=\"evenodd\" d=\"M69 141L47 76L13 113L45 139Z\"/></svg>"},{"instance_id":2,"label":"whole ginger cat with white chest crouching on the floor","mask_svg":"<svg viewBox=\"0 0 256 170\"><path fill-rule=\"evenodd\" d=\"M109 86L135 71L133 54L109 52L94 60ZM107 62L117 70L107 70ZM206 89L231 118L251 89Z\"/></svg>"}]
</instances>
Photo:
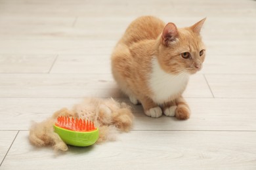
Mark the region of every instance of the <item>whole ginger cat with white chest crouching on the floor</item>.
<instances>
[{"instance_id":1,"label":"whole ginger cat with white chest crouching on the floor","mask_svg":"<svg viewBox=\"0 0 256 170\"><path fill-rule=\"evenodd\" d=\"M154 16L133 21L112 54L112 74L135 105L152 118L162 114L185 120L190 109L182 97L189 76L202 69L205 46L200 29L205 18L177 28Z\"/></svg>"}]
</instances>

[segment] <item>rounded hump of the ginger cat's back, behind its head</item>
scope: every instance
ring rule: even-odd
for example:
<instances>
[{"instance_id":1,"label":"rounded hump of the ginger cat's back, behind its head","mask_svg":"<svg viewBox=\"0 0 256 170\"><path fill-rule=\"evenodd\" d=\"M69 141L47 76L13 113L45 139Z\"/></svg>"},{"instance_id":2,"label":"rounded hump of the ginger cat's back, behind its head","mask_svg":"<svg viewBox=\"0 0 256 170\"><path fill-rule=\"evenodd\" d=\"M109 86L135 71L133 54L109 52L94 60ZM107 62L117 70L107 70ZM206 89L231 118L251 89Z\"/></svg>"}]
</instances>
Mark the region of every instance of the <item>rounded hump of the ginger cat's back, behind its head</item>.
<instances>
[{"instance_id":1,"label":"rounded hump of the ginger cat's back, behind its head","mask_svg":"<svg viewBox=\"0 0 256 170\"><path fill-rule=\"evenodd\" d=\"M165 23L159 18L154 16L141 16L131 22L120 42L129 46L134 42L143 41L145 39L156 39L161 31L163 31L163 27L165 27Z\"/></svg>"}]
</instances>

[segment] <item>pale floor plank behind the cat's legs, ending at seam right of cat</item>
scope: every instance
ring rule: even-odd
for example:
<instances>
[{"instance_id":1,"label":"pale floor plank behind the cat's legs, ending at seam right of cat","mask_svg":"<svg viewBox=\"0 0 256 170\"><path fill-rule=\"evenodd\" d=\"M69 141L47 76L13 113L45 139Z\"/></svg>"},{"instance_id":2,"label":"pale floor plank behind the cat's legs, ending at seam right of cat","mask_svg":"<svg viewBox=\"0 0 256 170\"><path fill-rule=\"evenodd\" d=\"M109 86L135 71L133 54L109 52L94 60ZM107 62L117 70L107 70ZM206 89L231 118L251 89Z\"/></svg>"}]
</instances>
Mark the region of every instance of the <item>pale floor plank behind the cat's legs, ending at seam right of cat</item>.
<instances>
[{"instance_id":1,"label":"pale floor plank behind the cat's legs, ending at seam right of cat","mask_svg":"<svg viewBox=\"0 0 256 170\"><path fill-rule=\"evenodd\" d=\"M0 80L1 97L124 96L111 74L1 74ZM184 96L212 97L203 75L191 77Z\"/></svg>"}]
</instances>

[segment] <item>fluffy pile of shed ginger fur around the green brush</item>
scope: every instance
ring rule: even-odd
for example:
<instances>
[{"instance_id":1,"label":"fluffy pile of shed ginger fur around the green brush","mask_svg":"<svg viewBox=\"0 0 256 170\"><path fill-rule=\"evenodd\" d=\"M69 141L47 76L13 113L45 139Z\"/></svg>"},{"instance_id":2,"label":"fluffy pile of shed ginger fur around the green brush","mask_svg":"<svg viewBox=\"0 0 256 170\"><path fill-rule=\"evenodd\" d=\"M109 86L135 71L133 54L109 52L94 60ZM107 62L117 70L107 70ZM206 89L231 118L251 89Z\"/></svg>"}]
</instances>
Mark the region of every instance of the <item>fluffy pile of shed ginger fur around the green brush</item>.
<instances>
[{"instance_id":1,"label":"fluffy pile of shed ginger fur around the green brush","mask_svg":"<svg viewBox=\"0 0 256 170\"><path fill-rule=\"evenodd\" d=\"M54 132L54 123L58 116L72 116L88 119L95 123L99 130L96 143L114 141L119 131L129 131L133 124L133 114L125 103L117 103L114 99L85 99L74 105L72 110L63 108L54 112L51 118L33 123L30 128L30 143L35 146L53 146L54 150L68 150L68 146L57 133Z\"/></svg>"}]
</instances>

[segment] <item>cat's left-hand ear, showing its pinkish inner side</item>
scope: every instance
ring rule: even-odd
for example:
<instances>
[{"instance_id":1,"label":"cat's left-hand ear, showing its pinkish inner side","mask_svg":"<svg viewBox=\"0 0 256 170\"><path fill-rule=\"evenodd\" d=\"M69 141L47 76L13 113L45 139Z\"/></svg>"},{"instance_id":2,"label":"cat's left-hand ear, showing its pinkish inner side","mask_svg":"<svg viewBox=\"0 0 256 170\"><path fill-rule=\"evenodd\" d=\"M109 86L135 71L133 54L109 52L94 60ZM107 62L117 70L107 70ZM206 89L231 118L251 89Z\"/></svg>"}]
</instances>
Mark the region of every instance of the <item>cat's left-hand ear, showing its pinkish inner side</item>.
<instances>
[{"instance_id":1,"label":"cat's left-hand ear, showing its pinkish inner side","mask_svg":"<svg viewBox=\"0 0 256 170\"><path fill-rule=\"evenodd\" d=\"M169 22L163 28L163 33L161 34L162 42L165 46L168 46L169 42L175 41L178 36L178 29L175 24Z\"/></svg>"}]
</instances>

